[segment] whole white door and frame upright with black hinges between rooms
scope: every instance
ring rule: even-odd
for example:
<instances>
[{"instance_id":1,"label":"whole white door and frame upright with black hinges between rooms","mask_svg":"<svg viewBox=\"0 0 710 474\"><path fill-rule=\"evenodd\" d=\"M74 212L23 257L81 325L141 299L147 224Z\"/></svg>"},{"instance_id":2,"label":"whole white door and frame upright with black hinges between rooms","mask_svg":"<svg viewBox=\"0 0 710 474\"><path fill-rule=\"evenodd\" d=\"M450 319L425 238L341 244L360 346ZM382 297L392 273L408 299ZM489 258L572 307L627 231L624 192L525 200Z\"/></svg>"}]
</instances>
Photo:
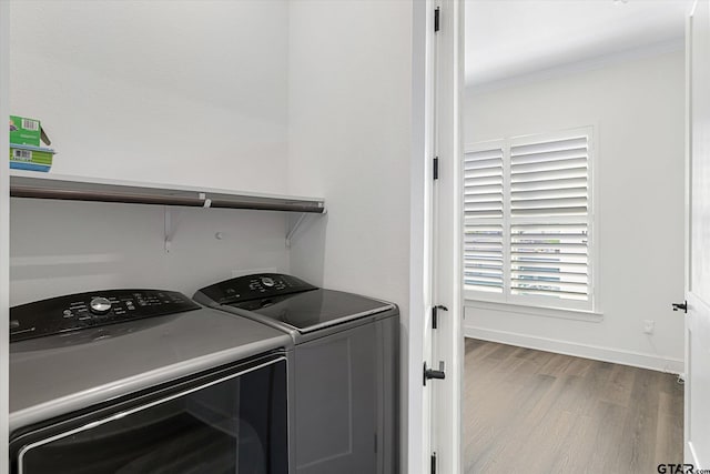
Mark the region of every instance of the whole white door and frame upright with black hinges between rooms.
<instances>
[{"instance_id":1,"label":"whole white door and frame upright with black hinges between rooms","mask_svg":"<svg viewBox=\"0 0 710 474\"><path fill-rule=\"evenodd\" d=\"M460 473L463 9L414 2L408 474Z\"/></svg>"}]
</instances>

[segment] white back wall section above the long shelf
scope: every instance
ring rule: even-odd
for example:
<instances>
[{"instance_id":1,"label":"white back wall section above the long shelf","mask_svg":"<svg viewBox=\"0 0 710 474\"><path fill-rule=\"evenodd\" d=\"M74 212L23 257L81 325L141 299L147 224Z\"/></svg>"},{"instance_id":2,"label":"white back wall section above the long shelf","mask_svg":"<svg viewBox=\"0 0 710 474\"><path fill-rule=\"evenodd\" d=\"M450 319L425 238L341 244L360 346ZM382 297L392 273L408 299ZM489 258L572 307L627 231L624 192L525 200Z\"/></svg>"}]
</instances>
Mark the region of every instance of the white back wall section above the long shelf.
<instances>
[{"instance_id":1,"label":"white back wall section above the long shelf","mask_svg":"<svg viewBox=\"0 0 710 474\"><path fill-rule=\"evenodd\" d=\"M11 109L52 172L285 192L288 7L13 1Z\"/></svg>"}]
</instances>

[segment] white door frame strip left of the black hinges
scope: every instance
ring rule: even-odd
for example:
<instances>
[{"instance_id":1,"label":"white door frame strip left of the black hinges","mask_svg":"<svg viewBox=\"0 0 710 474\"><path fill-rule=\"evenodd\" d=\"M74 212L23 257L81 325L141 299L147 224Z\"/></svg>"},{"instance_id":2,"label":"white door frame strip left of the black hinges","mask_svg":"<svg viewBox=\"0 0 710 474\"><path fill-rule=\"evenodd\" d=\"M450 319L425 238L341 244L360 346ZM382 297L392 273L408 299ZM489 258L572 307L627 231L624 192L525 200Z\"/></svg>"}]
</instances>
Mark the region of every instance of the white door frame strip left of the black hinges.
<instances>
[{"instance_id":1,"label":"white door frame strip left of the black hinges","mask_svg":"<svg viewBox=\"0 0 710 474\"><path fill-rule=\"evenodd\" d=\"M432 310L434 281L434 170L436 150L435 0L413 2L413 159L408 327L407 467L403 473L429 474L432 465L434 384L423 384L424 363L433 364Z\"/></svg>"}]
</instances>

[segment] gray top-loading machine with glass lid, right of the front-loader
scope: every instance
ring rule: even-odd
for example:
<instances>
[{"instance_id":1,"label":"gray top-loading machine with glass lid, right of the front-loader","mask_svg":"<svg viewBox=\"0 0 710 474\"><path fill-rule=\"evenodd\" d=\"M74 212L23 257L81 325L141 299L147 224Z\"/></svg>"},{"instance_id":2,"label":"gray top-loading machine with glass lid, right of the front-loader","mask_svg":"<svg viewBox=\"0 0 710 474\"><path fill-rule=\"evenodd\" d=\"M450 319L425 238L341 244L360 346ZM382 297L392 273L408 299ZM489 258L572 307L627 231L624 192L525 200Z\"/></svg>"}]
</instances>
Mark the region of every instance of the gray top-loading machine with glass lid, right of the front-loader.
<instances>
[{"instance_id":1,"label":"gray top-loading machine with glass lid, right of the front-loader","mask_svg":"<svg viewBox=\"0 0 710 474\"><path fill-rule=\"evenodd\" d=\"M223 281L193 299L293 339L295 473L399 472L395 304L274 273Z\"/></svg>"}]
</instances>

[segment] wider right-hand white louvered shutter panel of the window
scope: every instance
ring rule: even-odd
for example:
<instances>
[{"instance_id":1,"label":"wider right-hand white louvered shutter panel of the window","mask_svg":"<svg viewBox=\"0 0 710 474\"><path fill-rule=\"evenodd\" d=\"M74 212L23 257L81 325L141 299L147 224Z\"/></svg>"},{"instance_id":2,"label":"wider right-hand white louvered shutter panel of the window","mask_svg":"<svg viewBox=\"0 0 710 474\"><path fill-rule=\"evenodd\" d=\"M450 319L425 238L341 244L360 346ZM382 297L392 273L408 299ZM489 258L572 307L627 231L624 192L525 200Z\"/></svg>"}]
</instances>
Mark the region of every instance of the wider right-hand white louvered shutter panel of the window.
<instances>
[{"instance_id":1,"label":"wider right-hand white louvered shutter panel of the window","mask_svg":"<svg viewBox=\"0 0 710 474\"><path fill-rule=\"evenodd\" d=\"M510 293L589 300L588 135L510 147Z\"/></svg>"}]
</instances>

